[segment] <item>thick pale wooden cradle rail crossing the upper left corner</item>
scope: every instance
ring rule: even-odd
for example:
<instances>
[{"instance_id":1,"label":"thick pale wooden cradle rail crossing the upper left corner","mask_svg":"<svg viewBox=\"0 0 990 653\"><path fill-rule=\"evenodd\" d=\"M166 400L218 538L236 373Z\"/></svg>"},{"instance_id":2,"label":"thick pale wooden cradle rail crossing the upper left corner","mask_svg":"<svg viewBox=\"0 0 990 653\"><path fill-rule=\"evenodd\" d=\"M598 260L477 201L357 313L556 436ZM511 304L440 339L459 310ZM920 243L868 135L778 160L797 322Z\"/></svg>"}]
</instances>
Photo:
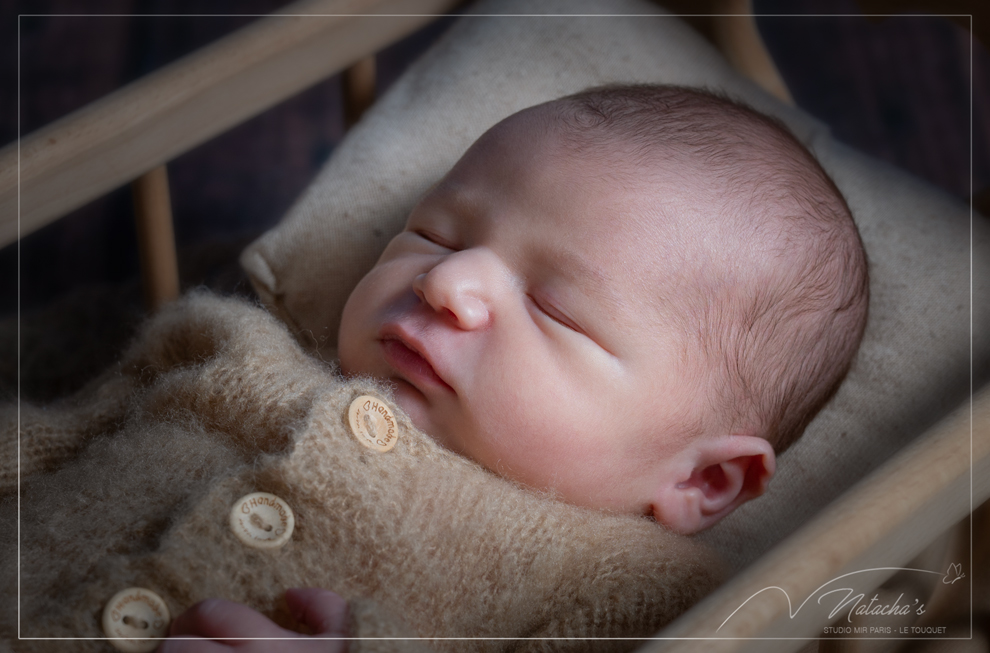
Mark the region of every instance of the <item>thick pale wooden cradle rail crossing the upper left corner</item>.
<instances>
[{"instance_id":1,"label":"thick pale wooden cradle rail crossing the upper left corner","mask_svg":"<svg viewBox=\"0 0 990 653\"><path fill-rule=\"evenodd\" d=\"M20 148L20 234L343 70L456 4L303 0L34 132ZM0 246L17 238L17 155L16 143L0 150Z\"/></svg>"}]
</instances>

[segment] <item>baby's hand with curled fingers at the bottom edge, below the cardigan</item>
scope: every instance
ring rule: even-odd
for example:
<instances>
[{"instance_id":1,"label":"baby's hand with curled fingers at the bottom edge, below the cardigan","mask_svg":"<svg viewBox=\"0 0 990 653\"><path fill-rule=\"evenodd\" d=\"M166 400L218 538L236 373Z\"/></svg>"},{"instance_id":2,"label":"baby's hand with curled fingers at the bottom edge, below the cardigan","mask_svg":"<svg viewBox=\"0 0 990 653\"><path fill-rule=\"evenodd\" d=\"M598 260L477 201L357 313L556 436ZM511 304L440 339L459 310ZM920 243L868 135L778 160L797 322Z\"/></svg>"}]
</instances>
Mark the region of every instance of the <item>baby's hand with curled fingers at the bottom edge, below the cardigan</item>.
<instances>
[{"instance_id":1,"label":"baby's hand with curled fingers at the bottom edge, below the cardigan","mask_svg":"<svg viewBox=\"0 0 990 653\"><path fill-rule=\"evenodd\" d=\"M169 639L159 648L159 653L263 653L265 651L290 651L291 653L345 653L347 641L316 639L322 637L347 637L347 602L328 590L305 588L285 592L285 601L293 616L313 631L312 638L285 630L264 615L251 608L221 599L209 599L189 608L175 621L170 637L196 639ZM232 639L240 637L285 638Z\"/></svg>"}]
</instances>

